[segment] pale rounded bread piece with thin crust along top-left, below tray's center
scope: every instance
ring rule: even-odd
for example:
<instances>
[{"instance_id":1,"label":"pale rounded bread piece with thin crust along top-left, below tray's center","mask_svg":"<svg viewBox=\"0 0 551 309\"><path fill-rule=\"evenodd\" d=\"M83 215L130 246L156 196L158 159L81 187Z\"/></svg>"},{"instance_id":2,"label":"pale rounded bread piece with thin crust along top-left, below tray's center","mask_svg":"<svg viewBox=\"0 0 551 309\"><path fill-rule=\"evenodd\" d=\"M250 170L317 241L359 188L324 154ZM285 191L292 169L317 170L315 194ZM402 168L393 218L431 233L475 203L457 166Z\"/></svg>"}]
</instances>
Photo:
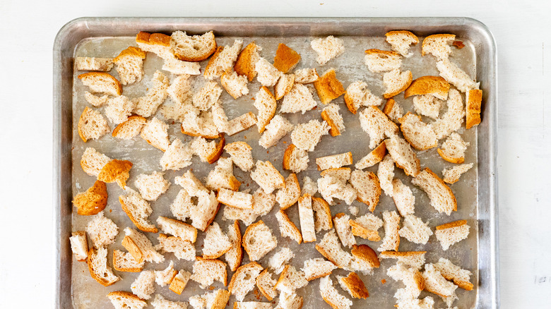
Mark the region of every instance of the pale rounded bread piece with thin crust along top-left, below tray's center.
<instances>
[{"instance_id":1,"label":"pale rounded bread piece with thin crust along top-left, below tray's center","mask_svg":"<svg viewBox=\"0 0 551 309\"><path fill-rule=\"evenodd\" d=\"M243 248L251 261L260 260L276 246L278 246L277 238L262 220L249 225L243 235Z\"/></svg>"}]
</instances>

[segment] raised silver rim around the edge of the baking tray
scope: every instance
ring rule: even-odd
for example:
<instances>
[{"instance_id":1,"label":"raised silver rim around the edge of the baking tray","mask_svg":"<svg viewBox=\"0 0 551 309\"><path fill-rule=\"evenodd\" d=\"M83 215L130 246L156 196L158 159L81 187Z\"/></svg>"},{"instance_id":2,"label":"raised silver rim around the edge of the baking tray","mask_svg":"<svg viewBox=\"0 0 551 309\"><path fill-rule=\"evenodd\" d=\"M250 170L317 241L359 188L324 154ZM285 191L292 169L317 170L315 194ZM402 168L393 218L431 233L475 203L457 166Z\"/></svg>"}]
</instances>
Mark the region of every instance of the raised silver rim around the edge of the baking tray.
<instances>
[{"instance_id":1,"label":"raised silver rim around the edge of the baking tray","mask_svg":"<svg viewBox=\"0 0 551 309\"><path fill-rule=\"evenodd\" d=\"M456 25L456 26L462 26L466 28L475 28L475 30L478 30L478 32L481 35L485 36L485 41L488 46L489 54L488 54L488 61L490 61L490 66L488 70L490 70L490 75L493 76L492 80L485 81L487 85L489 85L490 91L490 97L489 100L485 103L486 106L490 107L490 111L487 111L487 114L489 115L487 117L487 121L490 123L488 124L488 135L490 137L490 140L492 140L492 143L488 144L488 150L491 153L491 155L488 158L488 165L490 169L490 192L489 192L489 200L488 203L488 209L490 217L490 229L488 231L490 235L490 249L489 249L489 255L490 255L490 305L491 308L499 308L499 239L498 239L498 184L497 184L497 140L496 140L496 134L497 134L497 102L498 102L498 92L497 92L497 44L494 38L494 35L490 31L490 28L487 27L484 23L482 23L480 20L477 20L475 18L470 17L444 17L444 16L437 16L437 17L429 17L429 16L420 16L420 17L80 17L75 18L73 20L70 20L68 23L63 25L59 32L57 32L57 35L54 39L53 44L53 53L52 53L52 61L53 61L53 181L52 181L52 190L53 190L53 207L52 207L52 214L54 216L54 308L63 308L64 303L62 303L62 298L64 293L71 294L71 291L62 291L61 289L61 268L64 267L62 265L62 256L61 256L61 246L62 243L65 241L68 241L66 239L66 235L61 235L63 232L63 227L61 226L61 213L59 212L59 205L61 205L61 181L62 181L62 175L61 175L61 164L64 162L62 161L62 140L61 140L61 130L63 128L62 118L61 118L61 109L62 109L62 102L61 102L61 74L63 73L63 69L60 66L60 60L62 57L62 51L61 47L63 46L64 42L68 39L69 34L75 30L78 27L81 27L82 25L86 25L86 28L88 28L89 31L92 31L90 27L88 27L88 24L94 25L95 23L107 23L107 22L131 22L131 21L142 21L143 23L173 23L176 20L186 20L190 22L194 22L197 24L205 23L206 21L209 21L211 23L228 23L228 22L237 22L240 20L247 20L247 21L254 21L256 23L285 23L290 21L296 21L300 23L315 23L315 22L328 22L331 20L338 20L343 22L357 22L357 23L370 23L370 22L377 22L377 21L398 21L401 22L410 22L410 23L420 23L422 20L440 20L442 22L445 22L447 25ZM90 33L90 36L94 36ZM89 36L89 37L90 37ZM78 44L78 43L77 43ZM73 48L76 47L73 46ZM70 233L70 231L69 231ZM480 279L480 278L479 278ZM480 294L478 294L480 296ZM477 299L478 299L477 296ZM72 305L72 303L71 303ZM478 302L476 305L476 308L478 308Z\"/></svg>"}]
</instances>

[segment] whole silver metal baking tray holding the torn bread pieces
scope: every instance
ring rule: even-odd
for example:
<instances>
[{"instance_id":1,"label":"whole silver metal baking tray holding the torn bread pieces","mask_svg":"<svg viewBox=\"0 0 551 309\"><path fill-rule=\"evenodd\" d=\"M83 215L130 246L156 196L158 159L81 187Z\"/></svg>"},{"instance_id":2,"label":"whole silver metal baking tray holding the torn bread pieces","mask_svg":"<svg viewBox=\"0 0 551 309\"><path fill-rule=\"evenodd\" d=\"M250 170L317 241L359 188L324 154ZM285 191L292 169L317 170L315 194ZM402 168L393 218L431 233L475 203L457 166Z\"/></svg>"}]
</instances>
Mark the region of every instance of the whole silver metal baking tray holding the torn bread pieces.
<instances>
[{"instance_id":1,"label":"whole silver metal baking tray holding the torn bread pieces","mask_svg":"<svg viewBox=\"0 0 551 309\"><path fill-rule=\"evenodd\" d=\"M208 30L214 30L217 35L218 44L231 44L237 37L244 39L244 44L248 44L251 40L256 40L257 44L263 47L262 56L271 59L275 54L275 49L279 42L290 44L300 52L302 60L299 67L318 67L315 63L315 55L310 49L305 52L304 46L309 47L309 41L312 37L321 37L326 35L336 35L345 40L347 51L338 59L328 63L318 69L322 73L325 68L335 66L338 77L343 82L345 87L353 80L366 80L370 89L380 95L382 92L381 76L374 75L367 71L363 65L362 55L363 50L367 48L389 49L384 43L384 33L389 30L410 30L417 36L425 37L434 33L449 32L457 35L458 40L462 40L466 44L466 48L456 50L454 52L456 61L471 75L475 75L476 79L481 82L483 90L483 106L482 106L482 123L478 128L469 131L461 132L463 138L471 143L470 153L466 163L475 162L475 168L464 175L460 183L451 186L452 190L458 197L458 212L452 214L451 217L440 216L434 210L427 207L427 197L421 193L418 188L412 186L416 196L416 212L427 210L432 217L421 215L423 219L429 219L429 226L434 227L438 224L452 221L454 219L467 219L471 226L471 236L468 241L458 244L450 248L444 254L452 262L458 262L462 267L466 267L473 272L473 282L475 289L473 291L463 291L458 289L460 301L456 301L454 305L459 308L497 308L499 307L499 273L497 263L497 175L495 169L495 159L497 147L495 142L496 134L496 115L497 115L497 61L495 43L490 31L477 20L470 18L78 18L71 21L64 28L61 28L54 43L54 211L56 219L56 246L57 246L57 293L56 293L56 308L109 308L105 295L109 291L126 290L129 291L129 284L137 274L120 273L124 280L117 282L113 286L104 288L96 284L88 274L88 269L83 262L73 262L71 257L71 248L69 246L69 236L72 230L83 229L88 218L73 215L71 200L73 195L78 191L88 188L93 183L93 179L85 176L80 169L78 161L85 147L96 147L98 150L105 152L109 157L117 159L130 159L135 163L129 184L132 186L136 175L158 170L158 158L160 152L153 147L148 146L143 140L124 144L124 149L121 147L117 150L109 147L109 137L107 141L97 140L89 143L82 143L76 134L76 122L78 116L85 105L82 93L83 87L78 83L73 84L73 80L78 75L78 72L73 72L73 59L75 56L116 56L118 52L124 49L134 41L134 35L140 30L148 32L165 32L170 34L174 30L186 30L190 33L203 33ZM298 43L297 43L298 42ZM292 44L297 44L293 46ZM302 46L302 49L301 49ZM420 52L420 44L413 47L416 54ZM149 57L152 58L153 56ZM424 57L421 66L423 68L430 67L430 61L434 59ZM157 59L158 60L158 59ZM350 65L354 61L354 65ZM154 62L154 61L153 61ZM403 68L408 68L412 71L414 78L422 75L437 75L436 68L420 71L412 64L413 59L405 59ZM146 65L146 78L154 71L154 66L159 63L150 63ZM203 63L204 65L204 63ZM160 67L160 66L158 66ZM339 68L343 73L339 74ZM359 69L363 68L363 69ZM151 71L153 70L153 71ZM430 71L432 70L432 71ZM347 72L347 73L345 73ZM146 82L144 82L146 83ZM226 112L231 118L242 114L244 111L256 111L251 107L250 99L256 93L256 85L249 85L251 93L244 96L239 102L247 103L247 108L231 108L225 105ZM125 95L141 95L138 87L125 87ZM225 92L223 95L227 95ZM398 98L398 97L397 97ZM223 98L224 99L224 98ZM302 181L303 176L317 177L318 171L312 166L314 158L322 157L328 154L339 153L351 150L357 159L367 154L367 143L357 143L357 138L365 138L367 135L362 133L359 128L359 123L350 123L347 120L351 119L351 114L348 113L342 102L342 97L336 100L340 104L341 114L345 116L347 123L347 131L343 134L343 143L333 143L324 145L330 140L330 137L322 139L322 143L316 147L316 152L310 153L310 167L307 171L299 174ZM401 102L397 99L398 102ZM243 104L241 104L243 105ZM402 104L405 110L408 109ZM320 106L321 107L321 106ZM292 123L301 123L309 119L319 118L321 108L316 111L310 111L307 114L285 114ZM171 125L169 133L171 136L177 133L177 125ZM185 140L185 137L178 135L179 138ZM244 131L228 139L228 143L233 140L243 140L249 138L249 142L254 148L258 133L252 128L249 131ZM106 139L104 138L104 139ZM289 136L283 139L283 143L289 143ZM113 141L111 141L113 142ZM143 143L142 143L143 142ZM114 142L113 142L114 143ZM120 142L119 142L120 143ZM345 143L348 143L346 145ZM364 145L365 144L365 145ZM119 145L119 144L117 144ZM270 159L275 166L279 166L280 159L285 150L286 145L273 147L266 150L255 149L254 157L256 159ZM345 149L345 150L343 150ZM429 150L419 152L422 165L429 166L433 171L439 172L445 163L437 159L434 155L435 151ZM154 159L146 159L153 157ZM195 161L194 161L195 162ZM157 164L155 166L154 164ZM208 165L208 164L206 164ZM208 169L212 166L203 166L207 170L201 171L193 165L194 172L199 176L206 176ZM374 171L375 169L369 169ZM239 178L242 174L235 169L235 174ZM173 179L174 175L182 174L182 171L167 172L167 178ZM284 174L284 176L287 173ZM396 175L403 178L403 173L396 170ZM314 178L313 177L313 178ZM314 178L315 179L315 178ZM173 181L172 181L173 182ZM253 186L254 183L247 181L247 185ZM408 181L408 184L409 181ZM109 187L109 201L106 208L107 217L111 218L120 227L121 231L117 237L117 242L109 247L109 251L113 248L119 248L122 239L122 229L124 226L132 226L128 218L121 212L117 202L117 196L122 193L116 186ZM158 214L170 215L167 210L168 205L172 202L174 195L179 190L177 185L172 183L171 188L165 195L152 203L154 209L152 219ZM112 192L116 194L112 194ZM360 206L355 203L356 206ZM278 207L275 206L274 210ZM361 206L360 206L361 208ZM364 207L365 208L365 207ZM274 211L273 210L273 211ZM379 214L383 210L393 210L391 199L381 195L381 201L375 211ZM333 214L337 212L348 212L348 207L340 205L332 207ZM290 217L294 219L298 226L297 214L290 210ZM361 210L360 215L365 211ZM275 219L268 218L268 214L262 219L271 227L274 234L279 236ZM216 221L225 229L228 222L221 219L222 210L217 216ZM244 224L242 231L244 231ZM155 243L154 237L150 239ZM320 237L323 234L318 234ZM278 237L278 246L289 246L297 257L292 261L295 267L302 267L302 261L309 257L319 257L314 249L314 243L303 244L297 246L296 243L288 238ZM359 243L365 242L358 238ZM461 245L461 246L460 246ZM377 248L379 244L375 244L373 248ZM437 254L432 253L432 248L438 248L439 244L432 236L427 246L416 246L414 243L403 241L401 250L427 250L427 262L436 262ZM196 248L201 248L201 241L196 243ZM442 251L439 251L441 254ZM312 255L310 255L312 253ZM271 254L268 254L269 257ZM170 256L170 255L169 255ZM264 257L264 259L267 259ZM247 256L244 257L244 262L247 261ZM384 260L381 267L389 267L393 262ZM165 263L167 264L167 263ZM162 269L162 265L147 265L147 268ZM184 268L191 270L191 262L177 261L177 269ZM344 272L343 272L344 274ZM228 275L230 277L230 274ZM355 305L362 307L365 305L377 306L377 308L392 308L395 300L393 293L401 286L387 280L387 284L381 284L381 279L386 278L386 274L379 269L373 276L362 276L365 279L367 288L371 297L367 301L355 301ZM387 278L388 279L388 278ZM334 277L333 277L333 281ZM336 284L336 282L333 282ZM219 285L220 286L220 285ZM221 287L221 286L220 286ZM167 298L173 300L186 300L190 295L195 293L204 293L199 290L198 286L190 283L182 296L175 297L176 294L167 290L167 288L156 288L156 292L162 293ZM249 300L257 300L249 293ZM314 305L323 303L319 296L317 281L312 281L306 288L300 291L304 297L304 308L313 308ZM423 292L421 297L428 296L429 293ZM437 308L442 307L443 303L439 297L433 296L437 301ZM232 301L232 298L230 298ZM265 301L265 300L264 300Z\"/></svg>"}]
</instances>

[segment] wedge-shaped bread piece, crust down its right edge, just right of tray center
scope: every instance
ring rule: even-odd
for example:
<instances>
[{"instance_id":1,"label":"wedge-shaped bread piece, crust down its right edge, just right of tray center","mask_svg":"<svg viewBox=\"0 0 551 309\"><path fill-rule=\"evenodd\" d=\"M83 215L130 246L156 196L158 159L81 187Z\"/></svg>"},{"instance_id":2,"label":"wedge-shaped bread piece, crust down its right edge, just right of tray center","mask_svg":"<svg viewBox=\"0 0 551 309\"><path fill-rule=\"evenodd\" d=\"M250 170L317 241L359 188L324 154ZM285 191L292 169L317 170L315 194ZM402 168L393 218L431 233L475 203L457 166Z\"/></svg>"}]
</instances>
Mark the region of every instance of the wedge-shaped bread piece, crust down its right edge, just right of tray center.
<instances>
[{"instance_id":1,"label":"wedge-shaped bread piece, crust down its right edge, just right of tray center","mask_svg":"<svg viewBox=\"0 0 551 309\"><path fill-rule=\"evenodd\" d=\"M355 169L350 174L350 184L357 192L357 200L367 205L369 211L373 212L381 196L381 185L377 175L371 171Z\"/></svg>"}]
</instances>

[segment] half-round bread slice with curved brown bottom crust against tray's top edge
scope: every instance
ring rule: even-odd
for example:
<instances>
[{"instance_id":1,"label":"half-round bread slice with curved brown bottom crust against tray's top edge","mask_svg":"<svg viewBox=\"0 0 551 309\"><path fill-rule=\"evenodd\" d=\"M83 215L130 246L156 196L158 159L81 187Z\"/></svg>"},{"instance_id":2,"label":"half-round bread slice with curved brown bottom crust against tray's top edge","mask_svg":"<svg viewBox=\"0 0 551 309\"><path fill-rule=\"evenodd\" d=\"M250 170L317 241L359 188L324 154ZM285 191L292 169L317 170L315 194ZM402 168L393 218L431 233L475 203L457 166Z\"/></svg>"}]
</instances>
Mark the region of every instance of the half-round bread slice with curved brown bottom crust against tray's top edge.
<instances>
[{"instance_id":1,"label":"half-round bread slice with curved brown bottom crust against tray's top edge","mask_svg":"<svg viewBox=\"0 0 551 309\"><path fill-rule=\"evenodd\" d=\"M180 60L203 61L216 51L216 41L212 31L192 36L174 31L170 35L170 47L174 50L174 56Z\"/></svg>"}]
</instances>

